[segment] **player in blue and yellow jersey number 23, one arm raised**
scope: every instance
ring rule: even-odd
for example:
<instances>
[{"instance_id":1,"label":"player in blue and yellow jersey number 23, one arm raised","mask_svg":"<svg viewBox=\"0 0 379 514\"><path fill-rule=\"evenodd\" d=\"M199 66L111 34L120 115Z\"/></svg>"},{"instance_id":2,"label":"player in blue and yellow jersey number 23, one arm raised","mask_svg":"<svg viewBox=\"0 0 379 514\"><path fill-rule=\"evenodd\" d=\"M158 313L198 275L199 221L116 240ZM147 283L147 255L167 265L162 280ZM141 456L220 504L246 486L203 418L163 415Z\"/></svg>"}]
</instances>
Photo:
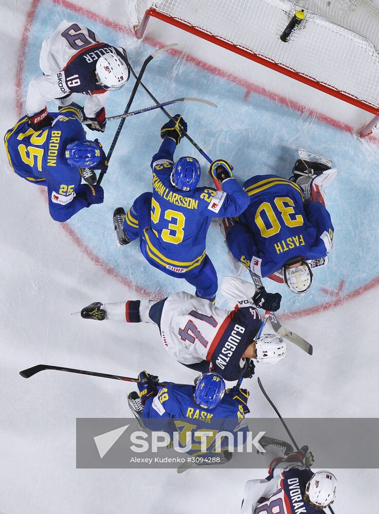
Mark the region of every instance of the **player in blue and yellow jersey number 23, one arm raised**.
<instances>
[{"instance_id":1,"label":"player in blue and yellow jersey number 23, one arm raised","mask_svg":"<svg viewBox=\"0 0 379 514\"><path fill-rule=\"evenodd\" d=\"M238 216L249 197L225 160L214 161L210 174L219 179L223 191L197 187L200 164L194 157L174 162L174 152L187 123L174 116L161 128L163 138L153 156L153 193L143 193L126 216L123 208L114 212L116 243L125 245L139 239L145 259L172 277L185 279L196 295L210 302L218 283L212 262L205 251L209 225L214 217Z\"/></svg>"}]
</instances>

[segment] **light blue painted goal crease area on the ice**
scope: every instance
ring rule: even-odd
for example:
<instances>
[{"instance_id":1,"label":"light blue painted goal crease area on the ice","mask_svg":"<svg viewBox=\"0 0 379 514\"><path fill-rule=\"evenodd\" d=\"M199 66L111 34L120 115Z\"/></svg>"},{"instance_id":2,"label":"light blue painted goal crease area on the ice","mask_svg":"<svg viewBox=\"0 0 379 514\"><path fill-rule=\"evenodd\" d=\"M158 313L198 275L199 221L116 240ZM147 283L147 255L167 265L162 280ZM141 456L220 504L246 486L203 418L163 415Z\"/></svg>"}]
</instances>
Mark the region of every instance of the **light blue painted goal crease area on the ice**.
<instances>
[{"instance_id":1,"label":"light blue painted goal crease area on the ice","mask_svg":"<svg viewBox=\"0 0 379 514\"><path fill-rule=\"evenodd\" d=\"M23 98L26 96L27 80L41 75L37 56L43 39L58 27L62 19L73 16L73 11L61 5L44 0L40 2L25 50ZM121 34L78 13L75 13L75 19L89 26L106 43L127 47L135 66L153 49L148 43L137 41L132 33ZM304 297L295 296L284 285L263 279L268 291L282 294L282 316L315 313L379 286L379 202L372 181L377 175L379 145L362 141L344 130L318 121L316 117L311 118L306 113L299 113L262 95L252 93L244 101L245 90L241 82L229 82L185 60L182 60L180 67L175 66L178 59L170 54L161 54L159 63L156 64L154 60L146 71L149 88L157 98L163 100L196 94L211 98L218 104L218 109L207 108L206 115L205 107L200 104L188 106L183 103L180 112L189 125L191 136L212 158L228 158L233 164L234 176L241 183L254 174L279 174L288 178L298 157L298 147L332 158L333 166L339 170L338 177L327 190L327 208L335 229L329 264L314 270L312 288ZM175 80L171 76L168 80L168 70L171 72L179 68L181 73L185 70L186 80ZM109 115L123 111L133 87L131 82L110 94L106 104ZM85 98L77 95L75 101L83 105ZM138 90L132 108L146 105L146 95ZM53 103L48 107L55 110ZM220 123L224 119L228 120L225 126ZM241 119L244 120L244 130L231 130L241 126ZM259 131L257 119L262 127ZM159 131L165 122L166 118L158 111L134 116L125 122L102 183L104 204L83 209L70 219L66 227L80 247L104 270L151 298L162 298L178 290L193 293L194 289L185 281L168 277L149 266L140 253L138 243L117 249L112 214L118 206L123 206L127 212L139 194L152 191L150 161L158 150ZM210 133L209 127L216 127L217 130ZM105 152L110 148L116 128L117 122L109 122L106 132L99 136ZM96 133L87 131L87 138L95 139L96 136ZM198 158L203 171L200 185L213 186L206 173L209 165L185 139L178 146L175 160L181 156ZM56 230L62 229L57 226ZM223 238L216 222L212 223L208 232L207 253L218 272L220 285L222 278L230 275L231 270L225 260ZM259 263L256 265L259 266ZM242 278L249 280L248 273ZM217 303L225 305L221 295Z\"/></svg>"}]
</instances>

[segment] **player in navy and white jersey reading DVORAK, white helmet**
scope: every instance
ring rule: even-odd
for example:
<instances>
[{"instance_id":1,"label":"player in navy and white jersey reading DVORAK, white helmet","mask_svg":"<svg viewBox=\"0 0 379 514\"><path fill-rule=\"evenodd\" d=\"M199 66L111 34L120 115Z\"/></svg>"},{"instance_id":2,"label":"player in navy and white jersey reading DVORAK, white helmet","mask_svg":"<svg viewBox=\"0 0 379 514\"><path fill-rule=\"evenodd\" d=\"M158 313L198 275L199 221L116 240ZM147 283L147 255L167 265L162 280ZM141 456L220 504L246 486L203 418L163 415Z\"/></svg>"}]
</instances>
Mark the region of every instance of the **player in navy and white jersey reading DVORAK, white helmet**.
<instances>
[{"instance_id":1,"label":"player in navy and white jersey reading DVORAK, white helmet","mask_svg":"<svg viewBox=\"0 0 379 514\"><path fill-rule=\"evenodd\" d=\"M270 463L268 476L245 485L240 514L323 514L336 496L337 480L330 471L313 473L308 446Z\"/></svg>"}]
</instances>

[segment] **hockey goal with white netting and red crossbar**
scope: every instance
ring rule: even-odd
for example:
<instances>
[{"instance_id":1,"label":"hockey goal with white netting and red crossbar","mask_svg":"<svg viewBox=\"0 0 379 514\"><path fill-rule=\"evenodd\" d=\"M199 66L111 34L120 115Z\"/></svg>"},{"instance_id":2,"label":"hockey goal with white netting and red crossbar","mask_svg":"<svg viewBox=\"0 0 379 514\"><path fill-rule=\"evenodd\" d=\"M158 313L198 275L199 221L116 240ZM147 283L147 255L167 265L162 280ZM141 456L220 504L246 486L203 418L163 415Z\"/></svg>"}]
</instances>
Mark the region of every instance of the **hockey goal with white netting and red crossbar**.
<instances>
[{"instance_id":1,"label":"hockey goal with white netting and red crossbar","mask_svg":"<svg viewBox=\"0 0 379 514\"><path fill-rule=\"evenodd\" d=\"M379 7L371 0L129 0L149 16L379 115ZM299 9L290 41L279 36Z\"/></svg>"}]
</instances>

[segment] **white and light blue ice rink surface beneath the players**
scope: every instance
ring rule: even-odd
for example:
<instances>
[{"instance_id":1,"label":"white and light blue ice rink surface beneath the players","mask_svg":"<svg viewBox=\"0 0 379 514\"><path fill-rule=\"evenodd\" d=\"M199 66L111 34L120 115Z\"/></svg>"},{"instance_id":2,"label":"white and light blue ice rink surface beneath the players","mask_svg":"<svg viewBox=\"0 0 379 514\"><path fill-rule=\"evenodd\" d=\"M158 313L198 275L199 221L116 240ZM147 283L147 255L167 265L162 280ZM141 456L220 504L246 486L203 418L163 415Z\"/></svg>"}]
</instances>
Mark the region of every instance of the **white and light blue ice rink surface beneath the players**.
<instances>
[{"instance_id":1,"label":"white and light blue ice rink surface beneath the players","mask_svg":"<svg viewBox=\"0 0 379 514\"><path fill-rule=\"evenodd\" d=\"M144 82L161 101L197 96L218 104L216 109L179 104L171 112L184 115L190 135L211 157L230 160L239 180L264 173L288 177L297 148L332 158L339 171L327 199L335 228L330 264L315 271L314 286L304 298L279 286L281 319L313 344L314 355L290 345L285 360L273 369L258 367L257 375L286 417L377 417L379 145L354 135L370 115L163 22L153 20L145 39L137 41L124 2L98 4L95 9L89 0L2 1L2 134L24 114L28 81L40 74L42 40L67 19L88 24L106 42L126 46L135 69L154 49L179 43L177 51L149 65ZM123 112L132 86L130 81L111 96L108 115ZM151 103L140 91L133 109ZM158 298L181 288L193 292L184 281L149 267L137 244L117 250L114 243L114 208L129 207L151 189L150 159L164 122L158 111L127 120L104 177L104 204L79 212L64 226L49 217L42 188L12 174L1 147L0 511L5 514L238 512L246 480L265 476L259 470L200 469L184 475L77 470L76 417L128 416L132 386L54 372L26 381L18 374L43 362L127 376L147 369L163 380L193 380L192 372L169 360L155 327L70 317L92 301ZM113 123L100 136L105 149L118 122ZM178 147L176 157L181 155L198 157L187 141ZM200 162L205 185L206 165ZM230 274L217 226L210 228L207 251L219 279ZM272 282L265 285L276 290ZM251 393L251 416L271 416L256 380L245 381L244 387ZM330 434L326 444L339 436ZM369 511L378 471L335 473L336 514L353 512L352 505Z\"/></svg>"}]
</instances>

